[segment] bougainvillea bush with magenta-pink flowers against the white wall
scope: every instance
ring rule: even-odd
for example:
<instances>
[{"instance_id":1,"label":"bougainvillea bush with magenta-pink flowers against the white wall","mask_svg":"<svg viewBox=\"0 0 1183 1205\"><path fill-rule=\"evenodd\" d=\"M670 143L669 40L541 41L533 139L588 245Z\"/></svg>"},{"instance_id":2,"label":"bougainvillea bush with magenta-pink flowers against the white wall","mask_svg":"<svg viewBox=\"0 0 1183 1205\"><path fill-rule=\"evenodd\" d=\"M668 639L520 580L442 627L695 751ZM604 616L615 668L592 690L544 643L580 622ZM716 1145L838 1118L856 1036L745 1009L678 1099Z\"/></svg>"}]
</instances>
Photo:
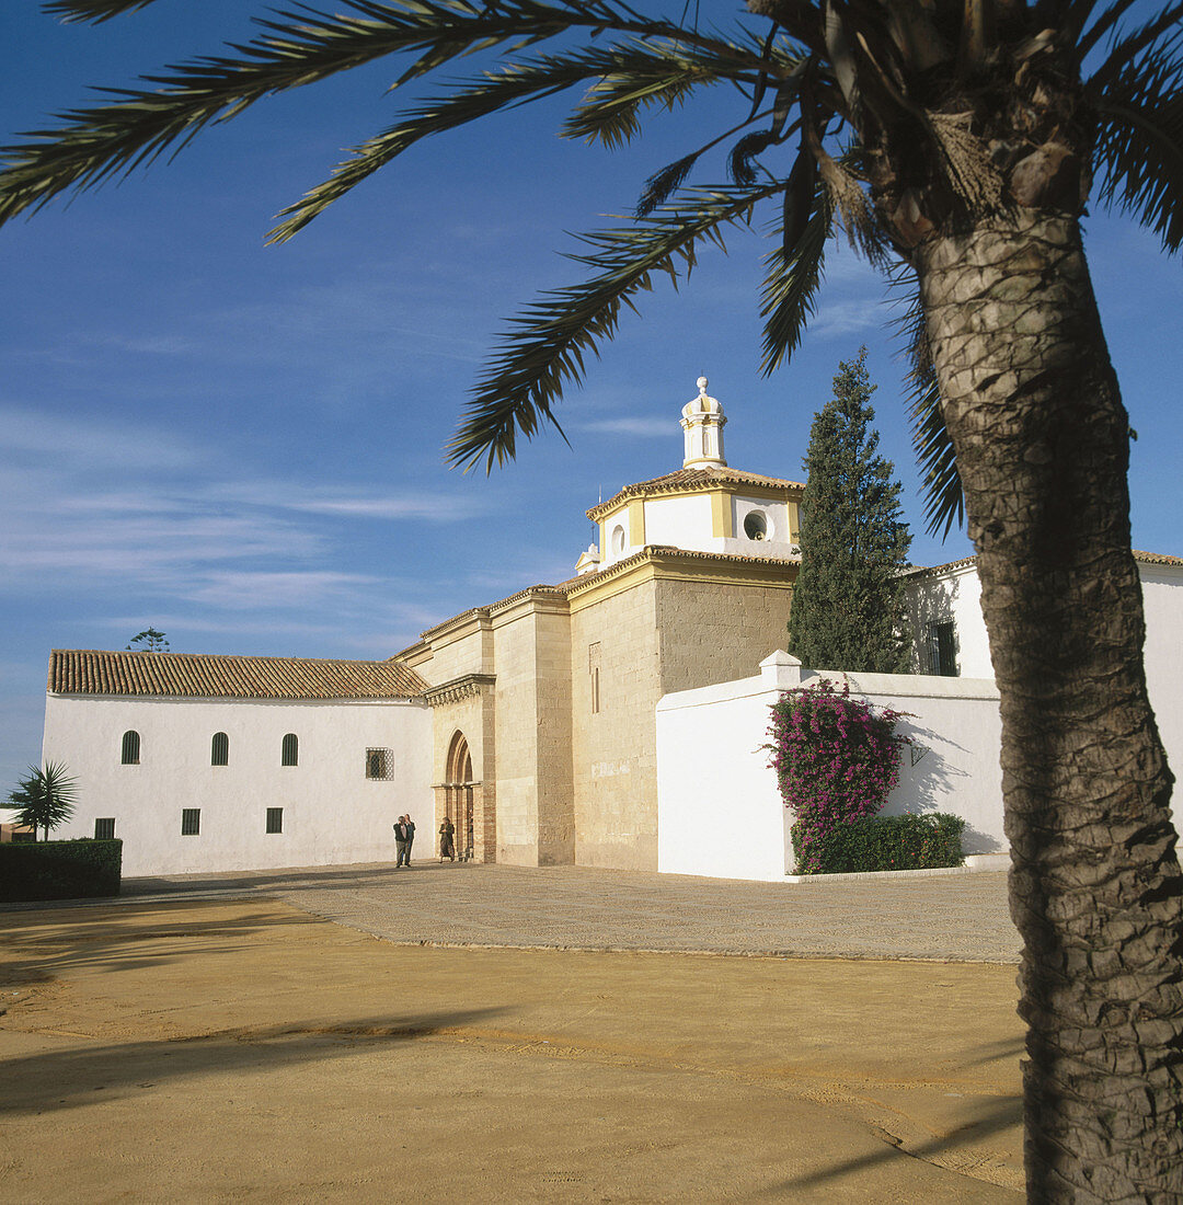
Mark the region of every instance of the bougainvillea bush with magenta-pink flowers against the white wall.
<instances>
[{"instance_id":1,"label":"bougainvillea bush with magenta-pink flowers against the white wall","mask_svg":"<svg viewBox=\"0 0 1183 1205\"><path fill-rule=\"evenodd\" d=\"M901 712L873 709L819 680L787 690L772 704L769 764L800 836L798 871L820 870L818 850L841 824L875 816L900 781L900 751L910 740L895 725Z\"/></svg>"}]
</instances>

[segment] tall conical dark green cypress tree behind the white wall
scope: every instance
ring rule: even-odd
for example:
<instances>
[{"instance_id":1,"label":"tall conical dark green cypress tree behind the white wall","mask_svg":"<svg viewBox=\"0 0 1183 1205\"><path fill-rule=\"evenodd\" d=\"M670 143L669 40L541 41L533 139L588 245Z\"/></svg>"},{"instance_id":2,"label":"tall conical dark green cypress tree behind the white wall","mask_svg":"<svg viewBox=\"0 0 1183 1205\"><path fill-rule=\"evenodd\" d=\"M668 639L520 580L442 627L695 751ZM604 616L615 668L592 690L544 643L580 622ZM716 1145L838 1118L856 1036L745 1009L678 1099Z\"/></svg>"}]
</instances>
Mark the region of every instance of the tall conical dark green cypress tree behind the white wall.
<instances>
[{"instance_id":1,"label":"tall conical dark green cypress tree behind the white wall","mask_svg":"<svg viewBox=\"0 0 1183 1205\"><path fill-rule=\"evenodd\" d=\"M866 348L838 365L813 419L801 500L801 572L789 652L816 669L900 674L908 666L900 570L912 534L894 466L876 449Z\"/></svg>"}]
</instances>

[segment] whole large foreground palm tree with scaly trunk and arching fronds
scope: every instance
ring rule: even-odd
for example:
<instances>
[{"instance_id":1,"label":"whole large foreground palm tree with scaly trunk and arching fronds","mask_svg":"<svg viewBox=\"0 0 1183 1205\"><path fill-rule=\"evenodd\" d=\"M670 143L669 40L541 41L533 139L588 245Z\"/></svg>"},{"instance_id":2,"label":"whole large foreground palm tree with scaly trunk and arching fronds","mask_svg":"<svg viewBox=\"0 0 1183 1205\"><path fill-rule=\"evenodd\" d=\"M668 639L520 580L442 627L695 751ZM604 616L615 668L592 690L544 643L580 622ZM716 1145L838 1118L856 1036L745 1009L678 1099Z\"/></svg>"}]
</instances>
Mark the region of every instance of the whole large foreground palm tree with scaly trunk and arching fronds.
<instances>
[{"instance_id":1,"label":"whole large foreground palm tree with scaly trunk and arching fronds","mask_svg":"<svg viewBox=\"0 0 1183 1205\"><path fill-rule=\"evenodd\" d=\"M51 0L104 20L152 0ZM145 78L7 151L0 221L183 145L263 96L404 55L400 86L464 55L492 70L419 101L282 214L290 237L420 139L585 89L564 133L611 148L654 106L728 83L737 123L654 174L635 221L584 236L588 277L519 317L451 459L487 468L553 404L622 307L769 208L764 369L796 347L842 233L913 299L916 440L934 528L963 498L1002 699L1011 901L1034 1200L1183 1198L1183 878L1141 660L1130 435L1079 219L1183 241L1183 4L748 0L728 33L626 0L337 0L220 58ZM685 6L689 8L689 6ZM698 7L698 6L695 6ZM543 52L541 43L549 42ZM720 127L724 122L720 119ZM730 180L685 182L730 149Z\"/></svg>"}]
</instances>

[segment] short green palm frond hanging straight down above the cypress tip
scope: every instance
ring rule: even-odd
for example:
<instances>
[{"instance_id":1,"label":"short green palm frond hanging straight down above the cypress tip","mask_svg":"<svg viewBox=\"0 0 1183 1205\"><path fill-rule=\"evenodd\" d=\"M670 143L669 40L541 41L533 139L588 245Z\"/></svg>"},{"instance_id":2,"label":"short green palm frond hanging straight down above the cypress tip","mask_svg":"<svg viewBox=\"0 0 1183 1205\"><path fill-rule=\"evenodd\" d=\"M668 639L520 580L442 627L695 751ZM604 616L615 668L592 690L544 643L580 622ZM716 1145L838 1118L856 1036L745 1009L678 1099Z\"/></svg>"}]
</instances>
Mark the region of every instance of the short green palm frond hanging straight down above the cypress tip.
<instances>
[{"instance_id":1,"label":"short green palm frond hanging straight down above the cypress tip","mask_svg":"<svg viewBox=\"0 0 1183 1205\"><path fill-rule=\"evenodd\" d=\"M801 342L822 288L825 245L834 233L834 206L825 188L818 187L816 170L808 174L810 195L804 212L791 210L793 176L813 166L808 152L798 157L785 187L785 212L781 245L765 257L760 317L764 318L764 355L760 371L769 376L789 359ZM800 199L796 204L800 206Z\"/></svg>"}]
</instances>

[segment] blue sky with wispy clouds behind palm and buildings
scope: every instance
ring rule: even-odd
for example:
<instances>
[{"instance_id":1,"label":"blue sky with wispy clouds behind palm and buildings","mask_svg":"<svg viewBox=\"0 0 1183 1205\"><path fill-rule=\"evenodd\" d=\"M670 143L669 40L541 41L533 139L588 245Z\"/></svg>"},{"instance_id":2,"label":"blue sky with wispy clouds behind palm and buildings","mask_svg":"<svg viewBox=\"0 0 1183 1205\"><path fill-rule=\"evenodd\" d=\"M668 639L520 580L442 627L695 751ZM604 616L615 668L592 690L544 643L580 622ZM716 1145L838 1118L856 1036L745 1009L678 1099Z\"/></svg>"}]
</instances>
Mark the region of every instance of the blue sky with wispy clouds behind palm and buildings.
<instances>
[{"instance_id":1,"label":"blue sky with wispy clouds behind palm and buildings","mask_svg":"<svg viewBox=\"0 0 1183 1205\"><path fill-rule=\"evenodd\" d=\"M87 84L217 53L255 7L164 0L87 28L10 0L5 139L86 102ZM614 154L557 137L561 102L522 110L418 147L265 247L272 214L405 107L393 74L263 102L172 164L0 230L5 792L40 758L52 647L122 648L153 624L175 651L385 657L458 611L570 576L588 506L681 466L678 411L700 374L729 418L729 462L800 478L837 364L866 343L913 560L970 551L960 533L923 533L891 311L847 247L795 362L759 375L759 219L623 319L563 404L571 447L548 431L492 477L447 470L506 321L579 278L559 254L578 249L569 231L628 212L652 170L696 145L699 120L716 125L712 106L738 99L659 117ZM1183 265L1120 218L1091 218L1088 237L1140 436L1134 543L1179 554Z\"/></svg>"}]
</instances>

